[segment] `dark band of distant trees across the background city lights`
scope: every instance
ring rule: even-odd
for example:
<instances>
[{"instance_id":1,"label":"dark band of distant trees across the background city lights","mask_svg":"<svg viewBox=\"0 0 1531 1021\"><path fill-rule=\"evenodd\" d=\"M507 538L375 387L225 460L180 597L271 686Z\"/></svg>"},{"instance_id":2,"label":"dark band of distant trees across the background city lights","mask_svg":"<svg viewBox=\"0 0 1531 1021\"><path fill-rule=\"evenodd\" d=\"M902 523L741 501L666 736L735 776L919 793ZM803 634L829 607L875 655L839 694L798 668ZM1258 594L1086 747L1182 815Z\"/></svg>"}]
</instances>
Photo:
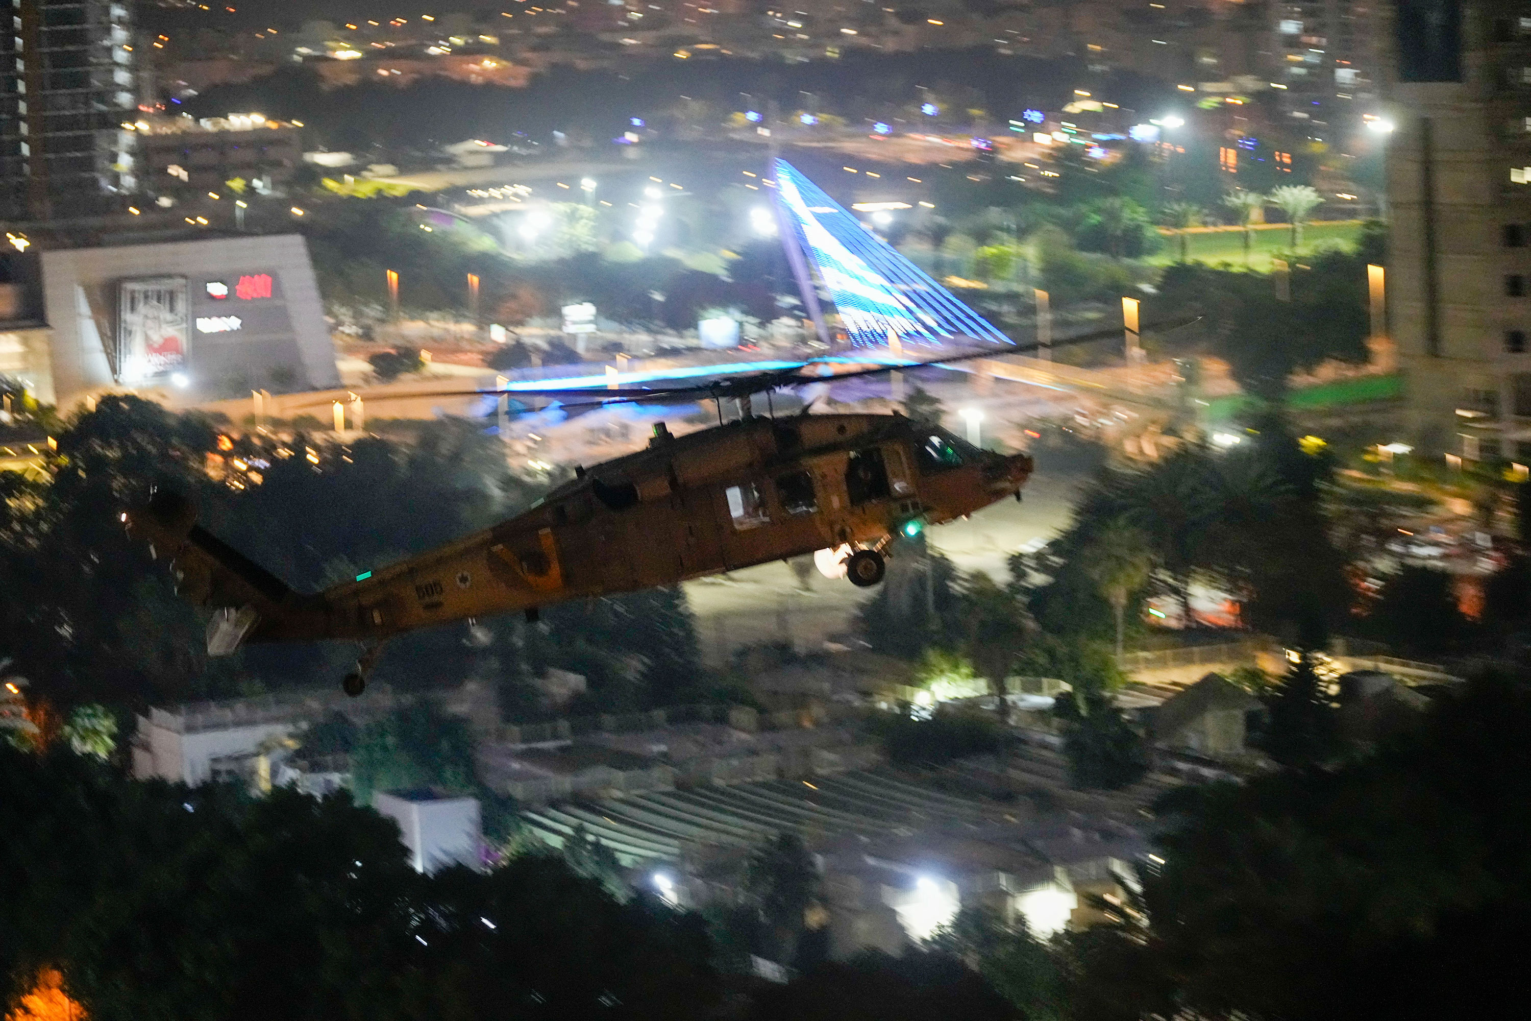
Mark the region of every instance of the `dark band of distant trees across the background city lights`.
<instances>
[{"instance_id":1,"label":"dark band of distant trees across the background city lights","mask_svg":"<svg viewBox=\"0 0 1531 1021\"><path fill-rule=\"evenodd\" d=\"M1170 95L1170 86L1127 72L1113 72L1102 81L1081 61L1003 57L981 47L897 55L853 51L841 60L798 64L723 58L634 61L623 70L559 66L536 75L525 89L426 78L403 89L363 81L326 90L312 70L283 67L248 84L208 89L190 99L185 110L194 116L260 110L303 121L309 144L409 152L464 138L508 142L516 132L548 141L554 130L568 133L571 141L605 145L628 130L631 116L674 129L698 113L706 115L703 121L723 121L750 103L761 109L776 103L790 113L810 103L799 92L814 96L816 112L854 124L917 110L922 99L916 86L955 101L949 103L954 107L949 115L932 122L939 130L943 122L969 122L968 109L987 110L1001 122L1020 118L1027 107L1058 109L1081 83L1108 92L1127 109L1148 109Z\"/></svg>"}]
</instances>

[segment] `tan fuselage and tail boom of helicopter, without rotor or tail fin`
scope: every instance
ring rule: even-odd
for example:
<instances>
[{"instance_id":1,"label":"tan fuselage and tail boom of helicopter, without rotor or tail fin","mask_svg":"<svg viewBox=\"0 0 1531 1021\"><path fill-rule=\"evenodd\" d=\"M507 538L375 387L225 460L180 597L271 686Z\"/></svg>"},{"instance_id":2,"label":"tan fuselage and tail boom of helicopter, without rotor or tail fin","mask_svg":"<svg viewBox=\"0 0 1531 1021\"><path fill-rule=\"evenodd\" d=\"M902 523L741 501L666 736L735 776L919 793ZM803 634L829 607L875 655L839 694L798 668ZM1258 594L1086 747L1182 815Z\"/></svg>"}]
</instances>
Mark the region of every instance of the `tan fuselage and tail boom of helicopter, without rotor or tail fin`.
<instances>
[{"instance_id":1,"label":"tan fuselage and tail boom of helicopter, without rotor or tail fin","mask_svg":"<svg viewBox=\"0 0 1531 1021\"><path fill-rule=\"evenodd\" d=\"M380 640L828 546L874 546L909 520L971 514L1030 475L1024 455L966 449L952 455L960 464L939 462L922 444L951 439L942 436L890 415L661 433L493 528L315 595L257 606L250 640Z\"/></svg>"}]
</instances>

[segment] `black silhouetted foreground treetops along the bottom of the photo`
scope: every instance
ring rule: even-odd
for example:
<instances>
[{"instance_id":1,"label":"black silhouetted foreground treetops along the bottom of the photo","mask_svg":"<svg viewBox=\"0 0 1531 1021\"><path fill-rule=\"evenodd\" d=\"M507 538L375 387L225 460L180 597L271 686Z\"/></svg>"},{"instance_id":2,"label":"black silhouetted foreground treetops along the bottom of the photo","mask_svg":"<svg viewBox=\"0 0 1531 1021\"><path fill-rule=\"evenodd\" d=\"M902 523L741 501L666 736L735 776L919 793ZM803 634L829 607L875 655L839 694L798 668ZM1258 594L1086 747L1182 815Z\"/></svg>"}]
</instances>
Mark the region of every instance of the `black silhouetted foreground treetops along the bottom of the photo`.
<instances>
[{"instance_id":1,"label":"black silhouetted foreground treetops along the bottom of the photo","mask_svg":"<svg viewBox=\"0 0 1531 1021\"><path fill-rule=\"evenodd\" d=\"M793 836L704 922L592 846L427 879L346 794L0 747L0 997L52 972L103 1018L1520 1016L1528 729L1523 684L1465 684L1370 752L1160 799L1141 895L1099 900L1105 925L1044 940L968 906L899 961L848 963L810 946L821 880ZM795 941L801 974L730 974L746 931Z\"/></svg>"}]
</instances>

